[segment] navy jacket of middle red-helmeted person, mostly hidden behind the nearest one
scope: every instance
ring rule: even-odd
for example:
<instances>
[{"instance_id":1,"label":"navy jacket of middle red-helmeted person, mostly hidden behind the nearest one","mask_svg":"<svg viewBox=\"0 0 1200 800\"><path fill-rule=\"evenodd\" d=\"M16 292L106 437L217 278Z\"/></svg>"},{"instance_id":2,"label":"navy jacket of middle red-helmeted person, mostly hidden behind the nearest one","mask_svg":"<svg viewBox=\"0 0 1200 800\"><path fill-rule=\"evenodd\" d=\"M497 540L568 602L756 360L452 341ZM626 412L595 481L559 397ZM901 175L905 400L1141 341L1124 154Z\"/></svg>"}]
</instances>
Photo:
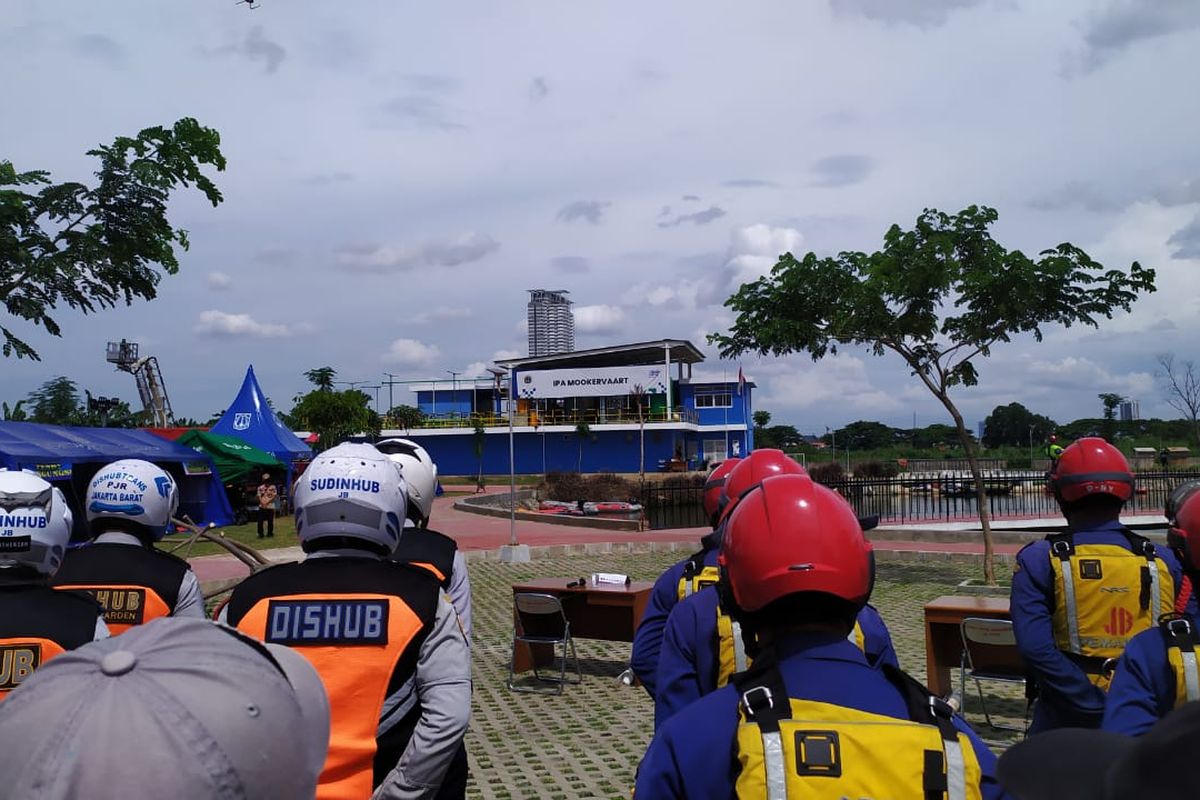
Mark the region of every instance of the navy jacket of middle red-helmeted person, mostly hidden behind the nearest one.
<instances>
[{"instance_id":1,"label":"navy jacket of middle red-helmeted person, mostly hidden behind the nearest one","mask_svg":"<svg viewBox=\"0 0 1200 800\"><path fill-rule=\"evenodd\" d=\"M716 690L720 658L716 645L718 604L716 588L706 587L671 610L655 681L655 729L679 709ZM868 662L877 667L882 661L899 668L892 637L880 613L866 606L859 612L858 622L863 628Z\"/></svg>"}]
</instances>

